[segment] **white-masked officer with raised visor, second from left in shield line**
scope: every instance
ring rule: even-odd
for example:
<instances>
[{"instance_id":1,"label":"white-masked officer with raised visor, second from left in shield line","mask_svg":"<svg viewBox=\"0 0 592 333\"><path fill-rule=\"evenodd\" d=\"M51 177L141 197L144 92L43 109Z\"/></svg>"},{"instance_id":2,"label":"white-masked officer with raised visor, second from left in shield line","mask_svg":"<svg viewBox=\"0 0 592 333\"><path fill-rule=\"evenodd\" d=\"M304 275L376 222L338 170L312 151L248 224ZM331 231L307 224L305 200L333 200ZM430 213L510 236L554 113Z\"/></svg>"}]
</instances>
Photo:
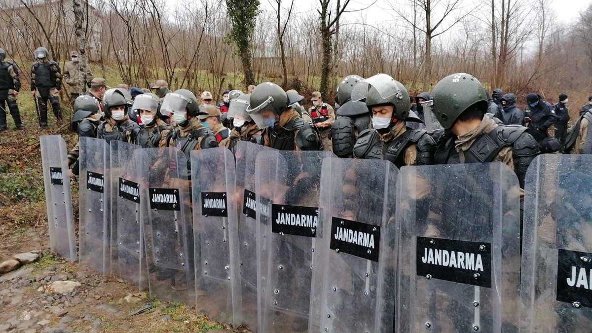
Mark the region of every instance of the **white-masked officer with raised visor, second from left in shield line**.
<instances>
[{"instance_id":1,"label":"white-masked officer with raised visor, second from left in shield line","mask_svg":"<svg viewBox=\"0 0 592 333\"><path fill-rule=\"evenodd\" d=\"M119 140L133 144L147 141L141 140L140 126L131 121L126 114L128 100L120 91L117 89L107 90L102 105L105 112L105 122L96 129L99 139L105 139L107 142Z\"/></svg>"}]
</instances>

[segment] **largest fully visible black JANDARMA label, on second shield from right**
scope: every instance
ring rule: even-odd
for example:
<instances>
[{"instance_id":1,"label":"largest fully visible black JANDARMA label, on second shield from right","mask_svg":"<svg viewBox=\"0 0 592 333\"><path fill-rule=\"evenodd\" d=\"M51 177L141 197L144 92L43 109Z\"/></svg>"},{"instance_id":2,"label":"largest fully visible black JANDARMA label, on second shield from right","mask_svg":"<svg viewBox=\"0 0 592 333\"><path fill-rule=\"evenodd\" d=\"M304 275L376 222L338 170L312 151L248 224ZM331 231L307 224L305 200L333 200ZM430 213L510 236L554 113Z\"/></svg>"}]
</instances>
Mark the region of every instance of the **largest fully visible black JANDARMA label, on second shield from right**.
<instances>
[{"instance_id":1,"label":"largest fully visible black JANDARMA label, on second shield from right","mask_svg":"<svg viewBox=\"0 0 592 333\"><path fill-rule=\"evenodd\" d=\"M491 288L491 244L417 237L417 275Z\"/></svg>"}]
</instances>

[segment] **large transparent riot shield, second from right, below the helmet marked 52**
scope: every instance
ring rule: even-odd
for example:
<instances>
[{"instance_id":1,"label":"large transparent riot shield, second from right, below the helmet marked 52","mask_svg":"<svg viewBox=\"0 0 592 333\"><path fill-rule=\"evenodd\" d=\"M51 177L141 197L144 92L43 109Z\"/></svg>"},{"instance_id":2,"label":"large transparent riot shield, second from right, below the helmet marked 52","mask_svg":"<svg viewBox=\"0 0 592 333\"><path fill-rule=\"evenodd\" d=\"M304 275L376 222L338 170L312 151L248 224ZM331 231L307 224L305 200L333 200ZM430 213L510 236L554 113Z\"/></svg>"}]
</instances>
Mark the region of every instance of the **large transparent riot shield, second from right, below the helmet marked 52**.
<instances>
[{"instance_id":1,"label":"large transparent riot shield, second from right, below the helmet marked 52","mask_svg":"<svg viewBox=\"0 0 592 333\"><path fill-rule=\"evenodd\" d=\"M516 332L520 188L500 162L403 167L396 332Z\"/></svg>"}]
</instances>

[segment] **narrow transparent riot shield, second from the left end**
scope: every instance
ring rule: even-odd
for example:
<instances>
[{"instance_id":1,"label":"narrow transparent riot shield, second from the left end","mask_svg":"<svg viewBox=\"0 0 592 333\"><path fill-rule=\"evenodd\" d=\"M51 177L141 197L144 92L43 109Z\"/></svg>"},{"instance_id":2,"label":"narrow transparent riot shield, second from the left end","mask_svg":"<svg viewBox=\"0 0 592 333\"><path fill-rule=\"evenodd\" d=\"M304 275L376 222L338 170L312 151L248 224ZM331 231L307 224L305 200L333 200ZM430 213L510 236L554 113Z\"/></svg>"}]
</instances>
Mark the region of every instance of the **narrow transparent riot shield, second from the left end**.
<instances>
[{"instance_id":1,"label":"narrow transparent riot shield, second from the left end","mask_svg":"<svg viewBox=\"0 0 592 333\"><path fill-rule=\"evenodd\" d=\"M80 262L102 274L111 271L111 200L107 141L79 139L79 236Z\"/></svg>"}]
</instances>

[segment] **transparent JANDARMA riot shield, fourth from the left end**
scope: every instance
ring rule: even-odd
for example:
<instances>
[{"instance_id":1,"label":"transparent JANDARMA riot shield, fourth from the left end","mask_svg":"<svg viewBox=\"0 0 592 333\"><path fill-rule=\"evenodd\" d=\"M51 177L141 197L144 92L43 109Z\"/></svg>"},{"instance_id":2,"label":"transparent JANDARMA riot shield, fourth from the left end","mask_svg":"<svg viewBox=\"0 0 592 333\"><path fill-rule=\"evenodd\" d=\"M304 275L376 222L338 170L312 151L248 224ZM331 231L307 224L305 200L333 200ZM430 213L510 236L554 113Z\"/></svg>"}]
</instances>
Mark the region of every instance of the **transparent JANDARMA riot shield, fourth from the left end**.
<instances>
[{"instance_id":1,"label":"transparent JANDARMA riot shield, fourth from the left end","mask_svg":"<svg viewBox=\"0 0 592 333\"><path fill-rule=\"evenodd\" d=\"M195 290L187 160L176 148L142 149L140 210L150 295L192 304ZM191 296L190 296L191 295Z\"/></svg>"}]
</instances>

